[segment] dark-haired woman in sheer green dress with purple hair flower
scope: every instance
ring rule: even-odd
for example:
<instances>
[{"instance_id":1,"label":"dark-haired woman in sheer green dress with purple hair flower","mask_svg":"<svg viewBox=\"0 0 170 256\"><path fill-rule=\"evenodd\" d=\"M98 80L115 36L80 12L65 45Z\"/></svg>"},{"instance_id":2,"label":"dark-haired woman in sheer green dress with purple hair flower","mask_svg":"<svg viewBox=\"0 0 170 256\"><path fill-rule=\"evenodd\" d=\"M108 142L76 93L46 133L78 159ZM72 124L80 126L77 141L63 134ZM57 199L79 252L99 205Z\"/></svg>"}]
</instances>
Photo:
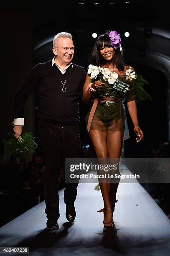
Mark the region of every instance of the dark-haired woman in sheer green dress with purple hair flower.
<instances>
[{"instance_id":1,"label":"dark-haired woman in sheer green dress with purple hair flower","mask_svg":"<svg viewBox=\"0 0 170 256\"><path fill-rule=\"evenodd\" d=\"M120 44L121 39L116 31L98 37L84 84L84 104L94 98L94 104L87 115L87 130L99 159L119 159L123 139L129 138L123 104L125 99L137 135L136 141L141 141L144 136L138 124L135 102L137 75L132 67L122 61ZM120 174L118 168L113 173ZM99 170L98 174L101 174ZM116 183L103 183L99 179L104 200L104 208L99 212L104 212L104 227L114 226L112 215L117 202L119 180Z\"/></svg>"}]
</instances>

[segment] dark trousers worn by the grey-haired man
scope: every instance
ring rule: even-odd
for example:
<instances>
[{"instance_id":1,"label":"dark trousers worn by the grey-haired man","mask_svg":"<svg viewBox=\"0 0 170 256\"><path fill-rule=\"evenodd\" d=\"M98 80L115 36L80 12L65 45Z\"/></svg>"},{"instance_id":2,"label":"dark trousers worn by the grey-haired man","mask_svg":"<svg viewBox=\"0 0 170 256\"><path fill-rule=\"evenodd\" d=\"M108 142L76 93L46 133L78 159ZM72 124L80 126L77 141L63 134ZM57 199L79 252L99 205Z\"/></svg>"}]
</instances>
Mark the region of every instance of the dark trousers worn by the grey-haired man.
<instances>
[{"instance_id":1,"label":"dark trousers worn by the grey-haired man","mask_svg":"<svg viewBox=\"0 0 170 256\"><path fill-rule=\"evenodd\" d=\"M59 214L58 177L65 158L79 158L81 152L79 125L56 125L38 120L38 131L43 148L46 169L43 190L48 223L56 223ZM66 183L64 202L76 200L78 183Z\"/></svg>"}]
</instances>

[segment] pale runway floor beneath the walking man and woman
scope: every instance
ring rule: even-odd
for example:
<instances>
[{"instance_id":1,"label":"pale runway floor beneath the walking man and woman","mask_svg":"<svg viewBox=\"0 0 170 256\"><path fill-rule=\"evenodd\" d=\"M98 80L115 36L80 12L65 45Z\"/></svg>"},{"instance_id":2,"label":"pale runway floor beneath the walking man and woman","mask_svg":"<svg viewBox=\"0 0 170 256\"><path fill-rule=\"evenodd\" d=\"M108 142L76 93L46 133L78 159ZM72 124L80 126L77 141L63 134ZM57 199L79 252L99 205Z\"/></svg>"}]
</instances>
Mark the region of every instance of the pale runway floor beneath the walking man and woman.
<instances>
[{"instance_id":1,"label":"pale runway floor beneath the walking man and woman","mask_svg":"<svg viewBox=\"0 0 170 256\"><path fill-rule=\"evenodd\" d=\"M0 228L0 247L29 247L31 256L170 255L170 220L139 183L119 184L116 230L103 228L103 213L97 212L103 202L95 185L79 184L74 223L66 220L62 189L59 230L44 230L43 201Z\"/></svg>"}]
</instances>

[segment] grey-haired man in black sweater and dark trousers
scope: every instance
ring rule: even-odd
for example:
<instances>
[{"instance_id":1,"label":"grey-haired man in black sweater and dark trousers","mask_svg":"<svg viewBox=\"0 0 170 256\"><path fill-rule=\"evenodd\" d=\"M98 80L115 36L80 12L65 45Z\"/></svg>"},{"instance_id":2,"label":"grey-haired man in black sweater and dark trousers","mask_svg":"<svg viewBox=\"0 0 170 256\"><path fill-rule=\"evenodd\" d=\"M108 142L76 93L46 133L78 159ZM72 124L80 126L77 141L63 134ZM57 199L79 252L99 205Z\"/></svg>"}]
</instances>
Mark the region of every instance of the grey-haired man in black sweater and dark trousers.
<instances>
[{"instance_id":1,"label":"grey-haired man in black sweater and dark trousers","mask_svg":"<svg viewBox=\"0 0 170 256\"><path fill-rule=\"evenodd\" d=\"M72 63L74 44L69 33L58 33L53 39L52 61L37 64L15 95L15 138L24 125L24 105L36 90L38 96L38 131L43 148L46 170L43 189L46 202L47 229L58 229L58 178L65 158L80 157L78 98L86 72ZM74 221L78 183L65 184L66 218Z\"/></svg>"}]
</instances>

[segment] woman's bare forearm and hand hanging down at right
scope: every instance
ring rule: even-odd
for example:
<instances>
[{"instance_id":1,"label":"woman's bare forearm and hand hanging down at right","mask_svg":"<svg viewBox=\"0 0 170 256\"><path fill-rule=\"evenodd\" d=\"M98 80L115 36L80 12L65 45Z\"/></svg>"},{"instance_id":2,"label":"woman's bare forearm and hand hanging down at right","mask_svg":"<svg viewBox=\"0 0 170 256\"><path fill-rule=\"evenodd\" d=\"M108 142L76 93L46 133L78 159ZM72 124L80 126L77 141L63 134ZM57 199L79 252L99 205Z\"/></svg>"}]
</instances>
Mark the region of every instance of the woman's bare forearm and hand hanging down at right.
<instances>
[{"instance_id":1,"label":"woman's bare forearm and hand hanging down at right","mask_svg":"<svg viewBox=\"0 0 170 256\"><path fill-rule=\"evenodd\" d=\"M136 107L136 102L135 100L127 102L127 108L129 111L129 115L132 119L132 123L134 125L134 132L137 135L137 142L141 141L142 138L144 137L142 129L140 129L139 124L138 124L138 118L137 118L137 107Z\"/></svg>"}]
</instances>

